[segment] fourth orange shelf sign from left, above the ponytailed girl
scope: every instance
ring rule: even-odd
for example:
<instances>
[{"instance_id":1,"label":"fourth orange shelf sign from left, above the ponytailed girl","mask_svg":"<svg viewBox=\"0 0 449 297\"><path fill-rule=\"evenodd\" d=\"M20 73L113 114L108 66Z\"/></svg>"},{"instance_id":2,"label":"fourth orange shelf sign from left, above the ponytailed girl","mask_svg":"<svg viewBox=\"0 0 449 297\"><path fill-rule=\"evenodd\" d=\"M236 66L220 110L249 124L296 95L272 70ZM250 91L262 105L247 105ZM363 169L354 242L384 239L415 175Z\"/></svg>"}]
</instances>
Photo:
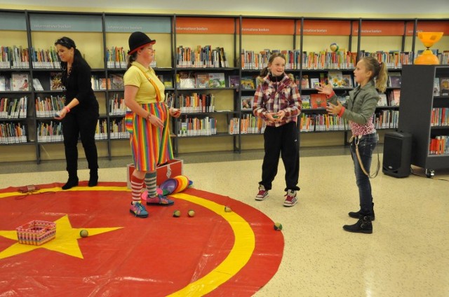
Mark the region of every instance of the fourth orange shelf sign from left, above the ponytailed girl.
<instances>
[{"instance_id":1,"label":"fourth orange shelf sign from left, above the ponytailed girl","mask_svg":"<svg viewBox=\"0 0 449 297\"><path fill-rule=\"evenodd\" d=\"M358 22L354 22L353 34L358 34ZM404 22L394 21L363 21L362 36L402 36L404 34Z\"/></svg>"}]
</instances>

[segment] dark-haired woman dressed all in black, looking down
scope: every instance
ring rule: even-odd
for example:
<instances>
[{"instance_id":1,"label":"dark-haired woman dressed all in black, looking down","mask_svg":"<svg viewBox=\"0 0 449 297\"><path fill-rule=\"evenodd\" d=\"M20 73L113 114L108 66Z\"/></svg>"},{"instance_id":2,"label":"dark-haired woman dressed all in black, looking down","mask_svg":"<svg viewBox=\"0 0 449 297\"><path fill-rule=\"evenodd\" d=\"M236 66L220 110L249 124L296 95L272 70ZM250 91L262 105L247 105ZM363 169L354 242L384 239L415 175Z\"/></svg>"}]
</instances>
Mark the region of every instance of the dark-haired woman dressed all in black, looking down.
<instances>
[{"instance_id":1,"label":"dark-haired woman dressed all in black, looking down","mask_svg":"<svg viewBox=\"0 0 449 297\"><path fill-rule=\"evenodd\" d=\"M99 117L98 101L92 90L91 67L83 59L75 43L68 37L55 42L62 69L62 84L65 87L65 106L56 119L62 120L65 158L69 179L62 186L67 190L78 186L78 138L81 137L88 161L90 178L88 186L98 184L98 153L95 145L95 129Z\"/></svg>"}]
</instances>

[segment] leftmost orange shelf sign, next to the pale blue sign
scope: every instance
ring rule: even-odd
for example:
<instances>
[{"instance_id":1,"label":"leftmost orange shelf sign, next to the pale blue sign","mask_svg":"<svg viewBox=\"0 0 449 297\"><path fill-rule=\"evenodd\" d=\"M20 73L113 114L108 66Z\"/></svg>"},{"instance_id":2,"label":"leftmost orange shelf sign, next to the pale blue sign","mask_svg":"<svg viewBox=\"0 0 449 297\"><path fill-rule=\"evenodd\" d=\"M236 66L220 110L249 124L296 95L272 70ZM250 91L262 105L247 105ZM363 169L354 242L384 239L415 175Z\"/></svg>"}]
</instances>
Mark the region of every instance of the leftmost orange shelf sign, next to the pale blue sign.
<instances>
[{"instance_id":1,"label":"leftmost orange shelf sign, next to the pale blue sign","mask_svg":"<svg viewBox=\"0 0 449 297\"><path fill-rule=\"evenodd\" d=\"M176 33L234 34L232 18L176 18Z\"/></svg>"}]
</instances>

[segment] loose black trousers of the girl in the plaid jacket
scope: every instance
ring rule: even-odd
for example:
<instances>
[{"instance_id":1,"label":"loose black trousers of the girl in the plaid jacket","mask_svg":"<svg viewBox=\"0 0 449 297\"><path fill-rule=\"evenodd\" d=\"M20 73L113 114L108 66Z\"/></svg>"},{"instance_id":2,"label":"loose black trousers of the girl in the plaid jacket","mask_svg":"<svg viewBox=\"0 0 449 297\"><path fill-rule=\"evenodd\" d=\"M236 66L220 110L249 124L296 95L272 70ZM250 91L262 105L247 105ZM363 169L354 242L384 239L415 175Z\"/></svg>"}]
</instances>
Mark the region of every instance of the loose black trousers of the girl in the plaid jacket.
<instances>
[{"instance_id":1,"label":"loose black trousers of the girl in the plaid jacket","mask_svg":"<svg viewBox=\"0 0 449 297\"><path fill-rule=\"evenodd\" d=\"M266 127L264 131L264 161L262 163L262 181L266 190L272 189L272 182L278 173L279 154L286 169L286 189L299 191L300 144L295 122L280 127Z\"/></svg>"}]
</instances>

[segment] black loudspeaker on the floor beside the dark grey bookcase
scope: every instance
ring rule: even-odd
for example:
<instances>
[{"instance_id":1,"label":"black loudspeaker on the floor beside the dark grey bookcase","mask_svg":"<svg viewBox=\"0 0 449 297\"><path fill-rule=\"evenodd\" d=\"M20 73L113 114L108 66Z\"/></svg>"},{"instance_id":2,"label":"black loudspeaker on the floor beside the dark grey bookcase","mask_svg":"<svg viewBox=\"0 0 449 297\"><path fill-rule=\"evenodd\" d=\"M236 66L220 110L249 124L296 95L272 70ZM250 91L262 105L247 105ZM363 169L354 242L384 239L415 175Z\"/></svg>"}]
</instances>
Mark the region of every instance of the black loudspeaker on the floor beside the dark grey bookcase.
<instances>
[{"instance_id":1,"label":"black loudspeaker on the floor beside the dark grey bookcase","mask_svg":"<svg viewBox=\"0 0 449 297\"><path fill-rule=\"evenodd\" d=\"M411 154L412 134L407 132L385 133L382 172L391 177L408 177Z\"/></svg>"}]
</instances>

